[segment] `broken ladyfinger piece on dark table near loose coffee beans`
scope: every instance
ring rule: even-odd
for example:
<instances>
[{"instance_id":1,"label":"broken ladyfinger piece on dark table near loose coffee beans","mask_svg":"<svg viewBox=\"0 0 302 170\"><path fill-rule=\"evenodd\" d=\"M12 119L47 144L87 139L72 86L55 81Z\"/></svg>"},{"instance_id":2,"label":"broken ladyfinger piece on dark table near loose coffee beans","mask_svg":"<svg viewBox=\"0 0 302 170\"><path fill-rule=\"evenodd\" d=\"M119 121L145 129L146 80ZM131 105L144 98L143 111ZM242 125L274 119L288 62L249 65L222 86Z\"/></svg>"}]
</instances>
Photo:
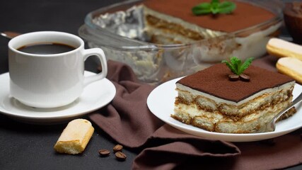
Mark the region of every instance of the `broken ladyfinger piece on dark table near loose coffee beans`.
<instances>
[{"instance_id":1,"label":"broken ladyfinger piece on dark table near loose coffee beans","mask_svg":"<svg viewBox=\"0 0 302 170\"><path fill-rule=\"evenodd\" d=\"M88 120L72 120L63 130L54 149L64 154L80 154L86 148L93 131L94 128Z\"/></svg>"}]
</instances>

